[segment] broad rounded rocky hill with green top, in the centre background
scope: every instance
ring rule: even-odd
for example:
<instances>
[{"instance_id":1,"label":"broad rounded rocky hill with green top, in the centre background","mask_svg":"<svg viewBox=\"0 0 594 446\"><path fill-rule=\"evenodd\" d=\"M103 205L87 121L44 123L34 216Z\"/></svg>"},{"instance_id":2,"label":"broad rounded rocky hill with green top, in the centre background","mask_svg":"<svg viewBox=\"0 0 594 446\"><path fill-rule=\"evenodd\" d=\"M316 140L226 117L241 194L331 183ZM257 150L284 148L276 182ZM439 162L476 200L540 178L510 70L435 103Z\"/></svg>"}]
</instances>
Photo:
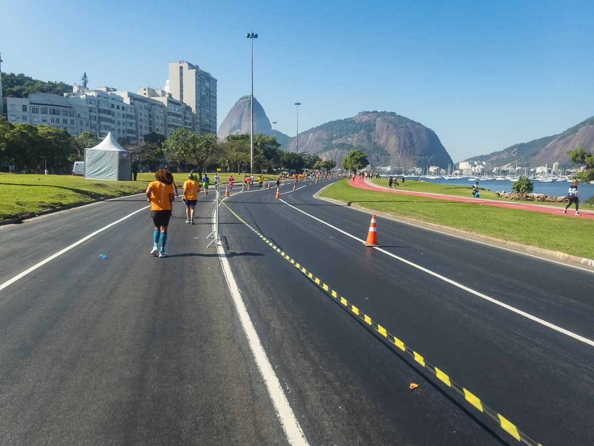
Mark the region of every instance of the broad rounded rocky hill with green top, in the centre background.
<instances>
[{"instance_id":1,"label":"broad rounded rocky hill with green top, in the centre background","mask_svg":"<svg viewBox=\"0 0 594 446\"><path fill-rule=\"evenodd\" d=\"M295 149L293 139L288 150ZM299 134L299 153L315 153L323 159L333 159L339 166L347 153L356 149L367 153L372 166L454 165L433 130L395 112L361 112Z\"/></svg>"}]
</instances>

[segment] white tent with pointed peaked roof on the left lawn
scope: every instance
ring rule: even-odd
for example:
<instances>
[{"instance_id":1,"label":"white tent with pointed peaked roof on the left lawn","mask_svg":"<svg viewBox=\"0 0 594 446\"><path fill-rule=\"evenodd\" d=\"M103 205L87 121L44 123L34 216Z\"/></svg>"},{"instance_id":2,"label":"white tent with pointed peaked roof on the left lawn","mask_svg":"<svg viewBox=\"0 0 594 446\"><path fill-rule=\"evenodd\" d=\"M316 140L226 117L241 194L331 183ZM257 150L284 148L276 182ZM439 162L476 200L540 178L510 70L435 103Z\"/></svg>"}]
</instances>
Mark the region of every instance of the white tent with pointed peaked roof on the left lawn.
<instances>
[{"instance_id":1,"label":"white tent with pointed peaked roof on the left lawn","mask_svg":"<svg viewBox=\"0 0 594 446\"><path fill-rule=\"evenodd\" d=\"M131 181L132 154L122 149L111 132L90 149L84 149L84 177L91 180Z\"/></svg>"}]
</instances>

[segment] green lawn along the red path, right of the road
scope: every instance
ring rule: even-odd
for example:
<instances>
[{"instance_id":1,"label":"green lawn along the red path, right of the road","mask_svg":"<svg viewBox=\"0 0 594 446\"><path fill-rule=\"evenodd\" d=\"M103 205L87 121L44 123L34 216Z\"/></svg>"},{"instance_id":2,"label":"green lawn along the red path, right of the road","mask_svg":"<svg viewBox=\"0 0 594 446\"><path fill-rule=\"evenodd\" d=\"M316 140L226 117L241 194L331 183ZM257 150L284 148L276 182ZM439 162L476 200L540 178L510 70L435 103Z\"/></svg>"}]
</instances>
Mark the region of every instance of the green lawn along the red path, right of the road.
<instances>
[{"instance_id":1,"label":"green lawn along the red path, right of the road","mask_svg":"<svg viewBox=\"0 0 594 446\"><path fill-rule=\"evenodd\" d=\"M405 181L405 190L422 192L446 193L443 189L434 189L435 186L467 189L466 186L419 183L418 181L410 181L410 183L419 183L421 186L415 184L415 189L407 189L407 183L408 181ZM453 195L451 191L447 193ZM491 198L484 194L485 191L481 191L481 198ZM594 259L594 221L589 219L363 190L350 186L347 180L338 181L327 187L321 196L355 203L374 211L390 212L394 215ZM463 196L469 196L469 193Z\"/></svg>"}]
</instances>

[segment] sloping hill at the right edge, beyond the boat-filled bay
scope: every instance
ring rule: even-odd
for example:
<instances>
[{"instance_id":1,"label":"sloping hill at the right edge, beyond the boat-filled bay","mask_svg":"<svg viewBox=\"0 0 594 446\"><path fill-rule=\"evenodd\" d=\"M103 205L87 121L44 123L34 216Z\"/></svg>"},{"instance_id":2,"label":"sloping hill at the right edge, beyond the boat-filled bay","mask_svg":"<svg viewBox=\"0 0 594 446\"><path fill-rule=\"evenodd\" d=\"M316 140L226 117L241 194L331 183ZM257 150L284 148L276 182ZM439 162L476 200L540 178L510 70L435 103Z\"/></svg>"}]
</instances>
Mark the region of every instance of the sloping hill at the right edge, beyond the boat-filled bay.
<instances>
[{"instance_id":1,"label":"sloping hill at the right edge, beyond the boat-filled bay","mask_svg":"<svg viewBox=\"0 0 594 446\"><path fill-rule=\"evenodd\" d=\"M573 164L565 150L573 150L577 147L590 152L594 151L594 117L568 128L563 133L535 139L529 143L516 144L500 152L475 156L467 161L490 161L492 167L503 168L516 167L516 165L536 168L546 164L552 167L554 162L558 162L560 168L571 168Z\"/></svg>"}]
</instances>

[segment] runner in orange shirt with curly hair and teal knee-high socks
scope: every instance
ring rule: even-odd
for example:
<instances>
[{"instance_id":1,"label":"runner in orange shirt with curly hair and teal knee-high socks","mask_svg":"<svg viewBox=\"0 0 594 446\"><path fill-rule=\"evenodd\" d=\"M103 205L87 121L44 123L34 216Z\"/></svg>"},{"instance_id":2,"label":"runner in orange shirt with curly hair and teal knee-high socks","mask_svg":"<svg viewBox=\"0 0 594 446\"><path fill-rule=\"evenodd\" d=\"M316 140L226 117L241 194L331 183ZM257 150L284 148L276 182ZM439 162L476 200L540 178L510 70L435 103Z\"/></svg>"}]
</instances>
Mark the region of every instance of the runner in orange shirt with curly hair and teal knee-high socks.
<instances>
[{"instance_id":1,"label":"runner in orange shirt with curly hair and teal knee-high socks","mask_svg":"<svg viewBox=\"0 0 594 446\"><path fill-rule=\"evenodd\" d=\"M146 190L147 201L150 202L150 216L153 218L154 224L154 244L150 253L156 255L159 252L157 243L159 242L160 232L161 250L159 257L167 257L165 252L167 227L171 218L171 203L175 200L173 175L167 169L160 169L154 174L154 177L157 181L150 183Z\"/></svg>"}]
</instances>

